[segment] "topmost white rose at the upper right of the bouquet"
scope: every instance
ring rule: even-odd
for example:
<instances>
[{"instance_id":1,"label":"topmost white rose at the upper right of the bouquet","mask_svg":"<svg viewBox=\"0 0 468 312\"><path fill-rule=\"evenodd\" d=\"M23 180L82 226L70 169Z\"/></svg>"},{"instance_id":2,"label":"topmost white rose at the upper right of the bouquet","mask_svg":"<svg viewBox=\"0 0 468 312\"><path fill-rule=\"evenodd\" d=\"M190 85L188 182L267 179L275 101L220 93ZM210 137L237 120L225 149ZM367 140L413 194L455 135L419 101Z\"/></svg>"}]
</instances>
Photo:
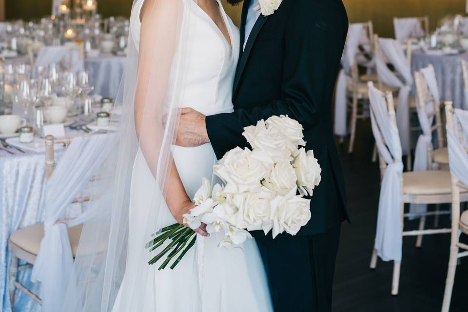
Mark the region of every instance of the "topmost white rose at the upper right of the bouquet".
<instances>
[{"instance_id":1,"label":"topmost white rose at the upper right of the bouquet","mask_svg":"<svg viewBox=\"0 0 468 312\"><path fill-rule=\"evenodd\" d=\"M281 134L288 138L288 149L295 153L299 145L305 146L302 125L288 116L272 116L265 121L268 128L275 128Z\"/></svg>"}]
</instances>

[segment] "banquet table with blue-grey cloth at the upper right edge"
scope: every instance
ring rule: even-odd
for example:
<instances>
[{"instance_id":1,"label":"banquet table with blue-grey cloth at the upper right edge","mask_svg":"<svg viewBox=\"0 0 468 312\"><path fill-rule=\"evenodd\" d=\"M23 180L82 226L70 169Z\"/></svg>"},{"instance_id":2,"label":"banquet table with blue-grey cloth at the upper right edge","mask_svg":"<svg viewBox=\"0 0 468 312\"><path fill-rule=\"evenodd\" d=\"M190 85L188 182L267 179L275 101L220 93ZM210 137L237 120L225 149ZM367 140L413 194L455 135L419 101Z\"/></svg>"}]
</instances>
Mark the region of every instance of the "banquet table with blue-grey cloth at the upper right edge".
<instances>
[{"instance_id":1,"label":"banquet table with blue-grey cloth at the upper right edge","mask_svg":"<svg viewBox=\"0 0 468 312\"><path fill-rule=\"evenodd\" d=\"M418 71L429 64L434 66L440 96L443 100L453 101L456 108L461 108L465 100L462 59L468 60L468 53L444 55L438 53L425 53L418 49L412 52L411 70Z\"/></svg>"}]
</instances>

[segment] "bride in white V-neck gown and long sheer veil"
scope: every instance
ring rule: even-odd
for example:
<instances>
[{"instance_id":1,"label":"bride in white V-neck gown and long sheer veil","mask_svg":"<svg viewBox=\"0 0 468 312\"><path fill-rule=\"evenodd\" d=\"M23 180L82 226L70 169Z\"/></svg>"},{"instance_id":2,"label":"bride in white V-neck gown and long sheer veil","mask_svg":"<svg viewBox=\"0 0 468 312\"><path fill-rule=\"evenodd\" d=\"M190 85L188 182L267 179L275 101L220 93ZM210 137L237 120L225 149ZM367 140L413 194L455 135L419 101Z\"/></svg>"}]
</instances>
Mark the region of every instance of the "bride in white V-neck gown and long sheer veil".
<instances>
[{"instance_id":1,"label":"bride in white V-neck gown and long sheer veil","mask_svg":"<svg viewBox=\"0 0 468 312\"><path fill-rule=\"evenodd\" d=\"M181 107L233 111L238 38L220 0L135 0L116 151L89 208L97 216L83 228L63 311L272 311L254 240L219 248L224 234L199 228L195 248L161 271L148 265L159 249L144 248L158 229L182 223L202 177L215 182L211 145L178 147L175 129Z\"/></svg>"}]
</instances>

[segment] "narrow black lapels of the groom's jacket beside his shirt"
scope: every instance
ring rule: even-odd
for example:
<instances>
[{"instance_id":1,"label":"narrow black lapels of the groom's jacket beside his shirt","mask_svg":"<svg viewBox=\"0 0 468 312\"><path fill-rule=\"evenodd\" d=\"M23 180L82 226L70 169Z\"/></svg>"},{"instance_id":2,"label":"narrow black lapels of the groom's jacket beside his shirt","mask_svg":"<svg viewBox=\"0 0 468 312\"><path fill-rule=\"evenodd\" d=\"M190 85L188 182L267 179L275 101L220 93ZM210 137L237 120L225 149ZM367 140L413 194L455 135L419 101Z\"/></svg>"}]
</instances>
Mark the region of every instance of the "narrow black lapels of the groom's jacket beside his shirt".
<instances>
[{"instance_id":1,"label":"narrow black lapels of the groom's jacket beside his shirt","mask_svg":"<svg viewBox=\"0 0 468 312\"><path fill-rule=\"evenodd\" d=\"M242 78L242 72L244 71L245 65L247 63L247 59L249 59L250 52L252 51L252 47L254 46L255 39L258 36L258 33L262 29L265 22L268 20L268 16L260 15L254 24L254 28L252 28L252 32L250 33L249 38L247 39L247 43L245 45L245 49L243 49L244 41L245 41L245 23L247 20L247 13L249 11L249 3L250 0L246 0L244 2L244 7L242 8L242 24L241 24L241 45L240 45L240 58L239 63L237 64L237 69L235 71L234 77L234 93L233 98L237 93L237 89L239 87L240 79Z\"/></svg>"}]
</instances>

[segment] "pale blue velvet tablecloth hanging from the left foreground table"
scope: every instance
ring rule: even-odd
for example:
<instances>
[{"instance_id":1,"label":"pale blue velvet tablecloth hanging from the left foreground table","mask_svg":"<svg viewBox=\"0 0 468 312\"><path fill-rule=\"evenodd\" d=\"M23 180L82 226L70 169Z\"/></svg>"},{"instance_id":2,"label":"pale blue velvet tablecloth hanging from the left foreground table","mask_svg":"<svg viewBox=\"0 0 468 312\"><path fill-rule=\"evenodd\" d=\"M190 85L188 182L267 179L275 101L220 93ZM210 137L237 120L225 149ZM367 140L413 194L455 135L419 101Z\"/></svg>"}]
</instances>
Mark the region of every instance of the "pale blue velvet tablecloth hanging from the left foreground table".
<instances>
[{"instance_id":1,"label":"pale blue velvet tablecloth hanging from the left foreground table","mask_svg":"<svg viewBox=\"0 0 468 312\"><path fill-rule=\"evenodd\" d=\"M101 136L66 129L67 137ZM73 144L73 143L72 143ZM8 152L7 152L8 151ZM64 149L55 153L59 162ZM0 307L11 311L8 268L10 253L8 238L17 229L40 223L44 218L45 153L20 152L0 145ZM66 217L74 217L82 210L81 204L72 204ZM21 264L21 263L20 263ZM30 281L31 269L20 271L19 281L40 296L39 284ZM40 306L19 290L15 293L15 311L39 312Z\"/></svg>"}]
</instances>

